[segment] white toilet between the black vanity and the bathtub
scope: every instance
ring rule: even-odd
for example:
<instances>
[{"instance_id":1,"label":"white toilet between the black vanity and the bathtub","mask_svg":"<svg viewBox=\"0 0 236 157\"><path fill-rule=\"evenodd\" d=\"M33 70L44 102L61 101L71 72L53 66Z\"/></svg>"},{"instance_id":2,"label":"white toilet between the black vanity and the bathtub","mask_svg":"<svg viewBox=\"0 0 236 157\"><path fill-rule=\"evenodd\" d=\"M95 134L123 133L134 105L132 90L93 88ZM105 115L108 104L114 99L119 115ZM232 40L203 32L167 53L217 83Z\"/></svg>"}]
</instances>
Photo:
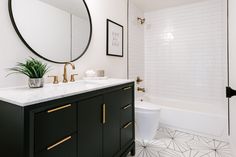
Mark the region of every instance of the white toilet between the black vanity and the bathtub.
<instances>
[{"instance_id":1,"label":"white toilet between the black vanity and the bathtub","mask_svg":"<svg viewBox=\"0 0 236 157\"><path fill-rule=\"evenodd\" d=\"M135 123L138 140L153 140L156 131L159 129L160 111L161 108L158 105L146 101L136 101Z\"/></svg>"}]
</instances>

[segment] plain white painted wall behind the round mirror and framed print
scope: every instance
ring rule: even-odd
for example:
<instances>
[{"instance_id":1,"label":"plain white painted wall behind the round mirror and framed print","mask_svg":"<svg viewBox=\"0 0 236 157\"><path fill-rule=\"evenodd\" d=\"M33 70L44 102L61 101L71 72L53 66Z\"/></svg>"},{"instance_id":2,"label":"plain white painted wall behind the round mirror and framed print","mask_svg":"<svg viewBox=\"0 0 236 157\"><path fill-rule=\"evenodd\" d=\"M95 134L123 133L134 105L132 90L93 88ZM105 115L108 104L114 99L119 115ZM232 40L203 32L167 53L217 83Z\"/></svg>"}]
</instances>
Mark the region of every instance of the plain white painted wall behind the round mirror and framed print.
<instances>
[{"instance_id":1,"label":"plain white painted wall behind the round mirror and framed print","mask_svg":"<svg viewBox=\"0 0 236 157\"><path fill-rule=\"evenodd\" d=\"M93 37L86 54L75 62L80 77L87 69L104 69L109 77L127 76L127 1L126 0L86 0L93 22ZM106 19L124 26L124 57L106 56ZM35 57L21 42L12 27L8 14L8 0L0 0L0 87L26 85L26 77L21 75L5 77L7 68L16 62L23 62L29 56ZM63 65L48 63L53 69L48 75L62 78Z\"/></svg>"}]
</instances>

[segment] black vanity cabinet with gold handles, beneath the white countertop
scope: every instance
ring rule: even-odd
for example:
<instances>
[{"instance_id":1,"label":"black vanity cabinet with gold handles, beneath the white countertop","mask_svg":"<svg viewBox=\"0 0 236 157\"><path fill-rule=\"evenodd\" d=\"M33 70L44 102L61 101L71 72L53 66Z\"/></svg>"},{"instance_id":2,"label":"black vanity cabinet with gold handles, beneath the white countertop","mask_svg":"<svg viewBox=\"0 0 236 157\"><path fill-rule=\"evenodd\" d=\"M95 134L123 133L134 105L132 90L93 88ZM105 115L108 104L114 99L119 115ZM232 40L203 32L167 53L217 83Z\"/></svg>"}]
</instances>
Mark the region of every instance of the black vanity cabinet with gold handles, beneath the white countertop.
<instances>
[{"instance_id":1,"label":"black vanity cabinet with gold handles, beneath the white countertop","mask_svg":"<svg viewBox=\"0 0 236 157\"><path fill-rule=\"evenodd\" d=\"M2 156L134 155L134 84L26 107L1 101L0 126Z\"/></svg>"}]
</instances>

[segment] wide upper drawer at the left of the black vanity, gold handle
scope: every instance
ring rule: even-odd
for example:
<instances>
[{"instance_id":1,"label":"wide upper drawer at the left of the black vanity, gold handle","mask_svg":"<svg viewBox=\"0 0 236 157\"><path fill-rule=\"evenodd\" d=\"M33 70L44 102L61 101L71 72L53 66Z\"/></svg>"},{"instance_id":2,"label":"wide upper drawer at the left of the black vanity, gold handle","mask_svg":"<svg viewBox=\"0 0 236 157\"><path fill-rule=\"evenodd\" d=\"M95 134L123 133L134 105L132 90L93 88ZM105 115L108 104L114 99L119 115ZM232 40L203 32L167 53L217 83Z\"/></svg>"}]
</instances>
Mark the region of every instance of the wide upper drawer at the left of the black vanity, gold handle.
<instances>
[{"instance_id":1,"label":"wide upper drawer at the left of the black vanity, gold handle","mask_svg":"<svg viewBox=\"0 0 236 157\"><path fill-rule=\"evenodd\" d=\"M45 149L61 137L76 132L75 104L62 105L35 115L35 152Z\"/></svg>"}]
</instances>

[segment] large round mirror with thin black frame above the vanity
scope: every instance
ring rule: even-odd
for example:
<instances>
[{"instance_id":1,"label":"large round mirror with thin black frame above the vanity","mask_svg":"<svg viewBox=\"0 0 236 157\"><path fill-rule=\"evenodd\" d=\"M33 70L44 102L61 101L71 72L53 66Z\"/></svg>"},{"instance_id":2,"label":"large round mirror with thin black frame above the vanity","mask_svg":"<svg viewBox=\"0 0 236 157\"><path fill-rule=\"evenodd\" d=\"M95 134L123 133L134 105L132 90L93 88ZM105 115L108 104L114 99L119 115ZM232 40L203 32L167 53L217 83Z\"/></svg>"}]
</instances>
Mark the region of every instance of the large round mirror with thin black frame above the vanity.
<instances>
[{"instance_id":1,"label":"large round mirror with thin black frame above the vanity","mask_svg":"<svg viewBox=\"0 0 236 157\"><path fill-rule=\"evenodd\" d=\"M84 0L9 0L9 13L23 43L47 61L75 61L90 44L92 23Z\"/></svg>"}]
</instances>

